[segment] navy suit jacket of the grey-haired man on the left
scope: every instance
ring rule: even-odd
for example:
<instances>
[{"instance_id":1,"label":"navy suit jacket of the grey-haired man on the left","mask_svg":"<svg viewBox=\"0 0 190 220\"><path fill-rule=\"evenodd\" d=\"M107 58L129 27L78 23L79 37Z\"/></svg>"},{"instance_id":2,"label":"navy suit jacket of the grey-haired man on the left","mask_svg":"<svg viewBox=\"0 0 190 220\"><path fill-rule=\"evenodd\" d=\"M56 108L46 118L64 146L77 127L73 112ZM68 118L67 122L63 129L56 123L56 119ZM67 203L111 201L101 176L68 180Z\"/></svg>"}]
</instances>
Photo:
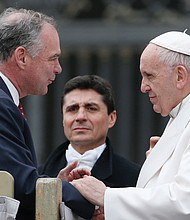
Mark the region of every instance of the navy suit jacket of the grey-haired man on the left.
<instances>
[{"instance_id":1,"label":"navy suit jacket of the grey-haired man on the left","mask_svg":"<svg viewBox=\"0 0 190 220\"><path fill-rule=\"evenodd\" d=\"M35 184L40 177L37 170L36 154L27 121L12 100L11 94L0 77L0 170L10 172L14 177L15 199L20 201L17 220L35 219ZM72 207L73 201L89 205L90 212L76 213L90 218L94 206L85 200L69 183L63 182L64 201ZM72 195L74 199L72 198ZM80 204L83 204L80 202ZM74 206L75 208L75 206ZM83 210L82 210L83 211Z\"/></svg>"}]
</instances>

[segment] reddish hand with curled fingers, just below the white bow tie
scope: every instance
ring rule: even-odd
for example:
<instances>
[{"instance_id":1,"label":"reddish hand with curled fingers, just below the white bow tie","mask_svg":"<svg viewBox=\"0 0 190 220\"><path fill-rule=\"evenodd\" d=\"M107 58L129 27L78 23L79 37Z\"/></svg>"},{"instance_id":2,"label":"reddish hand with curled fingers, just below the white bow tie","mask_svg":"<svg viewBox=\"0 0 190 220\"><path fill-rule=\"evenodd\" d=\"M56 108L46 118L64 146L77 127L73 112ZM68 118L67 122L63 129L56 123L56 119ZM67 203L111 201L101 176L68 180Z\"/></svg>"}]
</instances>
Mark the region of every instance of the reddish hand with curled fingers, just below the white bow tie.
<instances>
[{"instance_id":1,"label":"reddish hand with curled fingers, just below the white bow tie","mask_svg":"<svg viewBox=\"0 0 190 220\"><path fill-rule=\"evenodd\" d=\"M84 175L89 176L91 173L89 170L84 168L76 168L78 164L78 161L75 161L65 167L64 169L60 170L58 174L58 178L65 180L67 182L73 181L75 179L80 179Z\"/></svg>"}]
</instances>

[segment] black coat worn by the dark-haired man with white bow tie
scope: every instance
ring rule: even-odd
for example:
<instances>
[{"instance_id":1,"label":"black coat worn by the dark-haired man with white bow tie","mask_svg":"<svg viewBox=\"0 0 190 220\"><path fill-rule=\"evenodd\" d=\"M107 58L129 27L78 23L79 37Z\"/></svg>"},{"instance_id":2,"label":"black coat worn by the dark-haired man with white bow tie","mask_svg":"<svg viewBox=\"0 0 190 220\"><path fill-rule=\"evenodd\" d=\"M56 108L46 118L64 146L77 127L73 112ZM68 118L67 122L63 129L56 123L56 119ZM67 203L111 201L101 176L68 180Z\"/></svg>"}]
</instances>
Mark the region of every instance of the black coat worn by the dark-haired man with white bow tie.
<instances>
[{"instance_id":1,"label":"black coat worn by the dark-haired man with white bow tie","mask_svg":"<svg viewBox=\"0 0 190 220\"><path fill-rule=\"evenodd\" d=\"M60 169L67 165L65 151L68 149L68 145L69 142L67 141L56 148L47 159L44 167L40 168L40 172L51 177L57 176ZM103 181L109 187L135 186L140 167L113 153L108 138L106 145L105 150L91 170L92 176Z\"/></svg>"}]
</instances>

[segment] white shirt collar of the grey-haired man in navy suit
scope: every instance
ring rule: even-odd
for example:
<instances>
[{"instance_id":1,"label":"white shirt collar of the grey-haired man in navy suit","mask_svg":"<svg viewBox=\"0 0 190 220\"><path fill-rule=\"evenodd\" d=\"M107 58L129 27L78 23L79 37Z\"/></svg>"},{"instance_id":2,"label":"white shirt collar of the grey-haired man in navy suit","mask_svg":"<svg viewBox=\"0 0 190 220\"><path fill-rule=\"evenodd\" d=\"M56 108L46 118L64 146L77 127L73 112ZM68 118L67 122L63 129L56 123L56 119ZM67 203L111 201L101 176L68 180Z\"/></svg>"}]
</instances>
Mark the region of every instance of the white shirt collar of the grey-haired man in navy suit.
<instances>
[{"instance_id":1,"label":"white shirt collar of the grey-haired man in navy suit","mask_svg":"<svg viewBox=\"0 0 190 220\"><path fill-rule=\"evenodd\" d=\"M19 93L18 93L17 89L12 84L12 82L1 72L0 72L0 77L3 79L4 83L8 87L14 103L18 106L19 105Z\"/></svg>"}]
</instances>

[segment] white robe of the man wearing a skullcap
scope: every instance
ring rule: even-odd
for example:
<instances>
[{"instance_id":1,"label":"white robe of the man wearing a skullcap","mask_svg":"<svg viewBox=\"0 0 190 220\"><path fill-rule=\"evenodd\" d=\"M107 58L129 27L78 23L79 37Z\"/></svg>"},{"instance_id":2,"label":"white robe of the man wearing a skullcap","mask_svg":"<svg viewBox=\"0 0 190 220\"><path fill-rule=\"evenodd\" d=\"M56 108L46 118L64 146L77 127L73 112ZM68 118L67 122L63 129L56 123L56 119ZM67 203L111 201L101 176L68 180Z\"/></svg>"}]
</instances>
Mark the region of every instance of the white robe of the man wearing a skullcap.
<instances>
[{"instance_id":1,"label":"white robe of the man wearing a skullcap","mask_svg":"<svg viewBox=\"0 0 190 220\"><path fill-rule=\"evenodd\" d=\"M171 115L137 187L106 190L106 220L190 220L190 95Z\"/></svg>"}]
</instances>

